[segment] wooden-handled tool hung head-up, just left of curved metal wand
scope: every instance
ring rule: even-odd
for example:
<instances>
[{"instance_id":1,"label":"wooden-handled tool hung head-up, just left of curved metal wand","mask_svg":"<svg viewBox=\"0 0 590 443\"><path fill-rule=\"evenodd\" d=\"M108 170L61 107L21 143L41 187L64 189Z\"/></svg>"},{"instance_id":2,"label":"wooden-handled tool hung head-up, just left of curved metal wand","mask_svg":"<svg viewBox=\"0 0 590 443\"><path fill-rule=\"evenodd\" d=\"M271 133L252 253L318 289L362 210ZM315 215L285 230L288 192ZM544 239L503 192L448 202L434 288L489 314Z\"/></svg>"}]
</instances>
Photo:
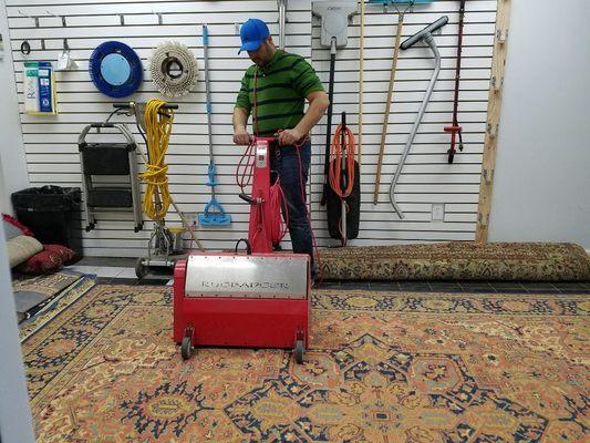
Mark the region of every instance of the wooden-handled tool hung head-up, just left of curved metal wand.
<instances>
[{"instance_id":1,"label":"wooden-handled tool hung head-up, just left of curved metal wand","mask_svg":"<svg viewBox=\"0 0 590 443\"><path fill-rule=\"evenodd\" d=\"M404 25L405 13L410 11L415 3L429 3L432 0L369 0L370 3L381 3L387 11L387 4L393 4L397 11L397 32L393 41L393 59L390 72L390 87L387 90L387 101L385 102L385 114L383 116L383 126L381 128L381 144L379 147L377 171L375 176L375 188L373 192L373 205L379 202L379 189L381 185L381 169L383 167L383 155L385 154L385 137L387 135L387 126L390 122L391 100L393 96L393 86L395 83L395 73L397 72L397 59L400 56L400 41L402 40L402 28ZM397 8L398 4L406 4L404 10Z\"/></svg>"}]
</instances>

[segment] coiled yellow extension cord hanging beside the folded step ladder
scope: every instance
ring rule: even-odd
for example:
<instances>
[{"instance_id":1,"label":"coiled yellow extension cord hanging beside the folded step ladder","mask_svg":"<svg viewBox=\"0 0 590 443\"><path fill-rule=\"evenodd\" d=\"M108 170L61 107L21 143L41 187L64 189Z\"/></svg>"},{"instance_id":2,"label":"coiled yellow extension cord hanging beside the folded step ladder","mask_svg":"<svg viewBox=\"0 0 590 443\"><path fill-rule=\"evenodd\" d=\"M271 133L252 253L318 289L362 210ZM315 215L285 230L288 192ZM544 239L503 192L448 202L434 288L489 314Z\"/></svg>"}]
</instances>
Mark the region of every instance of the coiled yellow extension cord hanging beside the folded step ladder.
<instances>
[{"instance_id":1,"label":"coiled yellow extension cord hanging beside the folded step ladder","mask_svg":"<svg viewBox=\"0 0 590 443\"><path fill-rule=\"evenodd\" d=\"M174 111L162 109L166 102L153 99L145 106L145 130L149 161L142 179L146 183L143 209L154 222L163 220L170 206L168 165L164 163L170 140Z\"/></svg>"}]
</instances>

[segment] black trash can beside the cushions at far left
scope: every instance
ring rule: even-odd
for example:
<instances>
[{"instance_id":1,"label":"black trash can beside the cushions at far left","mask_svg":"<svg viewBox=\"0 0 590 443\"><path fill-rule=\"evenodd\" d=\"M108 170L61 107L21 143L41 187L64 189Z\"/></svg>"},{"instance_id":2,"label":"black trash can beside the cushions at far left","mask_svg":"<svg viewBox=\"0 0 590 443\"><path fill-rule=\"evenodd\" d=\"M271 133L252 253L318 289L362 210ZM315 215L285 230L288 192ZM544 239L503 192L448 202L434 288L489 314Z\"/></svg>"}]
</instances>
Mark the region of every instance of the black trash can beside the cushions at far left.
<instances>
[{"instance_id":1,"label":"black trash can beside the cushions at far left","mask_svg":"<svg viewBox=\"0 0 590 443\"><path fill-rule=\"evenodd\" d=\"M68 246L82 257L79 187L30 187L12 194L17 218L43 245Z\"/></svg>"}]
</instances>

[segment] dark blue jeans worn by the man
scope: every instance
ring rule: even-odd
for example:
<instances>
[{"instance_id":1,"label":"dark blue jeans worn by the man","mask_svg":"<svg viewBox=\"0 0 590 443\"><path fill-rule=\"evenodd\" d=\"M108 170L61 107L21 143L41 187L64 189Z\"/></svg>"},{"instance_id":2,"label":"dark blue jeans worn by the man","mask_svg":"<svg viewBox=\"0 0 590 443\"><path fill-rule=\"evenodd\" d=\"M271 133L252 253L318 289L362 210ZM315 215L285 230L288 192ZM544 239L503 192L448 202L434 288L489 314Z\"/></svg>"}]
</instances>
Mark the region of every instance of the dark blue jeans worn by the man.
<instances>
[{"instance_id":1,"label":"dark blue jeans worn by the man","mask_svg":"<svg viewBox=\"0 0 590 443\"><path fill-rule=\"evenodd\" d=\"M277 147L272 156L271 168L279 175L287 207L289 208L289 234L291 235L293 253L308 254L310 256L311 277L315 278L313 241L306 206L306 184L308 183L310 163L311 141L308 140L299 148L292 145ZM283 218L286 218L284 209Z\"/></svg>"}]
</instances>

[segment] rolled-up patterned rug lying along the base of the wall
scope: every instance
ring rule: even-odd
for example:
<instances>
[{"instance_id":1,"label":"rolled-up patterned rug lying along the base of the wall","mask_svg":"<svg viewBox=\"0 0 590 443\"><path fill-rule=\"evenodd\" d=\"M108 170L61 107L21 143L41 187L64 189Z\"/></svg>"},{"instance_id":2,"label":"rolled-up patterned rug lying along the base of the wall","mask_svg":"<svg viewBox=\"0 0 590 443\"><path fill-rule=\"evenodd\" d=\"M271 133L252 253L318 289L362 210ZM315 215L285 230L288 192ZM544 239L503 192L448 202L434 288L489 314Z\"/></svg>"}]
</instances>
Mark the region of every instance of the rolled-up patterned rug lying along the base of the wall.
<instances>
[{"instance_id":1,"label":"rolled-up patterned rug lying along the base of the wall","mask_svg":"<svg viewBox=\"0 0 590 443\"><path fill-rule=\"evenodd\" d=\"M449 241L321 249L334 280L590 280L590 257L568 243Z\"/></svg>"}]
</instances>

